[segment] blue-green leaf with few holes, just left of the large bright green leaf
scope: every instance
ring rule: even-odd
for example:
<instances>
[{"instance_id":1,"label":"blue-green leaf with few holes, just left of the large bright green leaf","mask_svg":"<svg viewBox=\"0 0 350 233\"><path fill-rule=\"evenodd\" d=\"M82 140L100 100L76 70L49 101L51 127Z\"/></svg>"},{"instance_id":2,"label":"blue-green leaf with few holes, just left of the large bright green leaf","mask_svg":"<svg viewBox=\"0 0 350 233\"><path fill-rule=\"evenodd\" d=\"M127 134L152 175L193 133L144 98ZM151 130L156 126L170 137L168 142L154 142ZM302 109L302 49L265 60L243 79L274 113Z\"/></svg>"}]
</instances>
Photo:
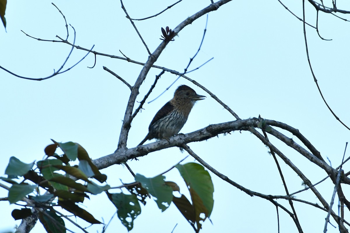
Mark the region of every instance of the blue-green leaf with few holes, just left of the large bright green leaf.
<instances>
[{"instance_id":1,"label":"blue-green leaf with few holes, just left of the large bright green leaf","mask_svg":"<svg viewBox=\"0 0 350 233\"><path fill-rule=\"evenodd\" d=\"M141 183L158 205L158 208L165 211L173 200L173 189L165 183L165 176L159 175L147 178L141 174L136 174L135 181Z\"/></svg>"}]
</instances>

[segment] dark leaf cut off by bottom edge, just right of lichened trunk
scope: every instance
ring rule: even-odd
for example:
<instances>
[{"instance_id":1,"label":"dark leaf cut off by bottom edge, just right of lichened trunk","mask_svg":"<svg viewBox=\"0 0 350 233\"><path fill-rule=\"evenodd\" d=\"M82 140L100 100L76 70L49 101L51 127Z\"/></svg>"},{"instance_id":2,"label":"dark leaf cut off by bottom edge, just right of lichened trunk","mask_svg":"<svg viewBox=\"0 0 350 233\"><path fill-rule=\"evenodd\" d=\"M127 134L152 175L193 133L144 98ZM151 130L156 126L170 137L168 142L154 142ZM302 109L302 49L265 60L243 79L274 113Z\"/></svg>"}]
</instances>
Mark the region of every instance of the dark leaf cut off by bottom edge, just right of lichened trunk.
<instances>
[{"instance_id":1,"label":"dark leaf cut off by bottom edge, just right of lichened trunk","mask_svg":"<svg viewBox=\"0 0 350 233\"><path fill-rule=\"evenodd\" d=\"M49 215L49 216L47 216ZM64 233L66 232L64 221L54 211L45 210L39 212L40 223L44 226L47 233Z\"/></svg>"}]
</instances>

